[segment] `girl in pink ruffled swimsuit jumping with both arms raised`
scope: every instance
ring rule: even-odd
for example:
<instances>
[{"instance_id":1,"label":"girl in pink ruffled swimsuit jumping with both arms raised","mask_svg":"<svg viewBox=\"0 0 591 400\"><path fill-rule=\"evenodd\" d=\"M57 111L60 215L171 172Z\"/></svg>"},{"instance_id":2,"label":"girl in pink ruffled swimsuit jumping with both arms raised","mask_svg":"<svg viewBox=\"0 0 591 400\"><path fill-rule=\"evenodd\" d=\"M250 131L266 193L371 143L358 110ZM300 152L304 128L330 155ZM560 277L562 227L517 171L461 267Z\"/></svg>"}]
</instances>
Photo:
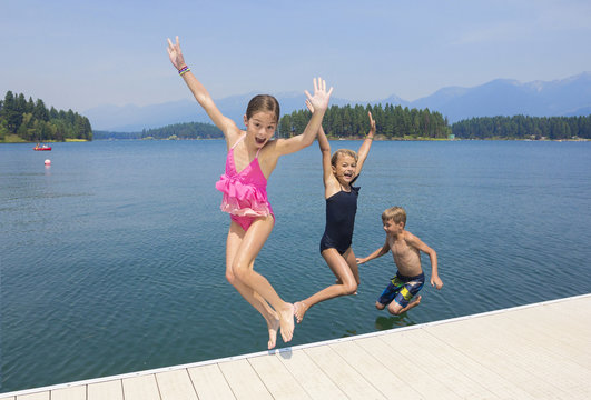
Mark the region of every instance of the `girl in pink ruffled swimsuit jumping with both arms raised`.
<instances>
[{"instance_id":1,"label":"girl in pink ruffled swimsuit jumping with both arms raised","mask_svg":"<svg viewBox=\"0 0 591 400\"><path fill-rule=\"evenodd\" d=\"M272 140L279 121L279 104L275 98L266 94L253 98L244 116L246 130L242 130L221 114L209 92L190 72L178 37L176 43L168 39L168 56L197 102L226 138L226 173L216 183L224 193L221 210L229 212L232 220L226 241L226 279L265 318L268 348L272 349L279 329L285 342L292 340L294 306L283 301L267 279L254 270L255 259L275 223L266 183L280 156L314 142L333 89L327 91L324 80L314 79L314 96L307 90L305 93L315 111L304 132L289 139Z\"/></svg>"}]
</instances>

